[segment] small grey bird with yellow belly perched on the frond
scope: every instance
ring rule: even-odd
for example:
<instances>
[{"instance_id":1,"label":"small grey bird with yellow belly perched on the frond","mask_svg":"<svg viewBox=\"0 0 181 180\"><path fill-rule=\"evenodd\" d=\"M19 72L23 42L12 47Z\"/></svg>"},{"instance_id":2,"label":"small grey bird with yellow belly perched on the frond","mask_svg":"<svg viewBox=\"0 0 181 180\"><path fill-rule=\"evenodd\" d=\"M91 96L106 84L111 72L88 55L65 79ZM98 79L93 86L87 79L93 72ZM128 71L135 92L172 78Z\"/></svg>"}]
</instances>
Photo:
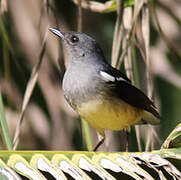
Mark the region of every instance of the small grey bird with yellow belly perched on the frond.
<instances>
[{"instance_id":1,"label":"small grey bird with yellow belly perched on the frond","mask_svg":"<svg viewBox=\"0 0 181 180\"><path fill-rule=\"evenodd\" d=\"M63 94L70 106L105 140L105 130L122 130L133 124L159 124L153 102L104 57L98 43L80 32L49 30L63 40L69 65Z\"/></svg>"}]
</instances>

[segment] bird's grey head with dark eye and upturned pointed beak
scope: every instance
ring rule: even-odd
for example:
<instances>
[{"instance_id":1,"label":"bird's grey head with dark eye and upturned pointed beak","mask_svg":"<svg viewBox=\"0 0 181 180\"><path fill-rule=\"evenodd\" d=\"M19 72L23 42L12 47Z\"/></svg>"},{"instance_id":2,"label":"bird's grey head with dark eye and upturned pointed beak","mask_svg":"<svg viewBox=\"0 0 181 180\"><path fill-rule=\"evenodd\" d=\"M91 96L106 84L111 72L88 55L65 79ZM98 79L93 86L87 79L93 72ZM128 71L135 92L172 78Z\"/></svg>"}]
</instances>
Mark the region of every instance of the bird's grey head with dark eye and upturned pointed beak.
<instances>
[{"instance_id":1,"label":"bird's grey head with dark eye and upturned pointed beak","mask_svg":"<svg viewBox=\"0 0 181 180\"><path fill-rule=\"evenodd\" d=\"M103 58L101 48L90 36L80 32L63 32L54 28L49 30L63 40L70 59L82 61L95 56Z\"/></svg>"}]
</instances>

